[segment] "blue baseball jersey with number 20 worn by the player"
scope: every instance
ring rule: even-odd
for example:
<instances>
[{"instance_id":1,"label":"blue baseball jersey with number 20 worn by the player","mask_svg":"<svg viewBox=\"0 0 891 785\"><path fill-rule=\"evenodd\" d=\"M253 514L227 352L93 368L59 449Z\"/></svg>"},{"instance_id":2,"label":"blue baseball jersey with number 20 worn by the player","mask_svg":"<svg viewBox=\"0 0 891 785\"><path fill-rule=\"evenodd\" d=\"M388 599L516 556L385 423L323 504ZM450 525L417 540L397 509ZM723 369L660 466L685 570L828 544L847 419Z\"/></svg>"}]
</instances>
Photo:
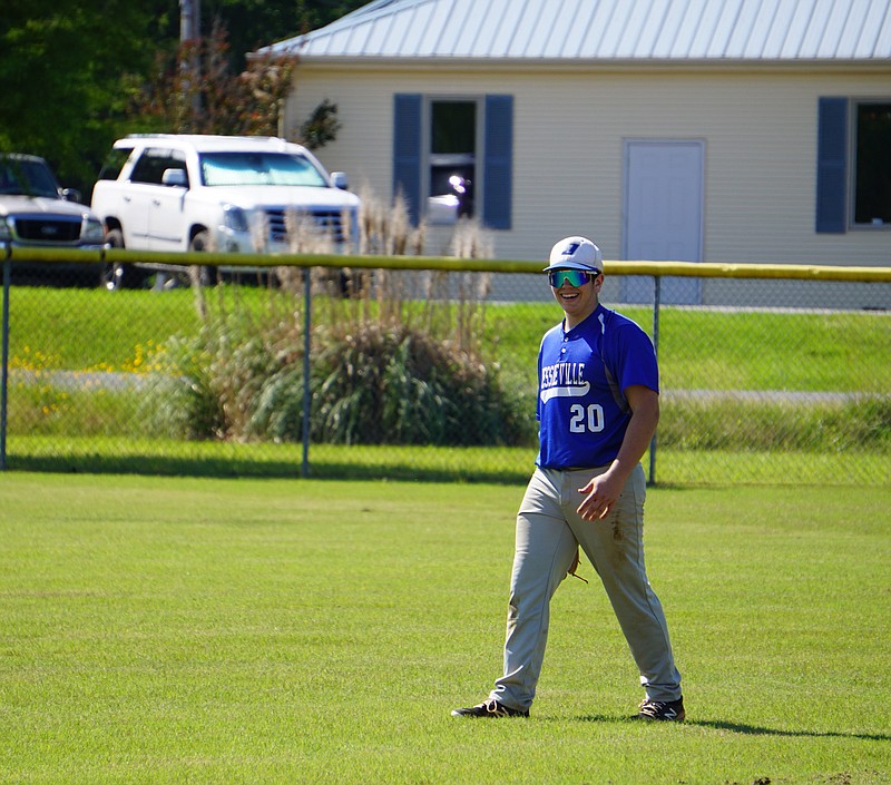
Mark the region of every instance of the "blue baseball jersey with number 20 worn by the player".
<instances>
[{"instance_id":1,"label":"blue baseball jersey with number 20 worn by the player","mask_svg":"<svg viewBox=\"0 0 891 785\"><path fill-rule=\"evenodd\" d=\"M631 419L624 390L659 391L656 352L630 318L603 305L569 332L549 330L538 353L539 453L547 469L615 460Z\"/></svg>"}]
</instances>

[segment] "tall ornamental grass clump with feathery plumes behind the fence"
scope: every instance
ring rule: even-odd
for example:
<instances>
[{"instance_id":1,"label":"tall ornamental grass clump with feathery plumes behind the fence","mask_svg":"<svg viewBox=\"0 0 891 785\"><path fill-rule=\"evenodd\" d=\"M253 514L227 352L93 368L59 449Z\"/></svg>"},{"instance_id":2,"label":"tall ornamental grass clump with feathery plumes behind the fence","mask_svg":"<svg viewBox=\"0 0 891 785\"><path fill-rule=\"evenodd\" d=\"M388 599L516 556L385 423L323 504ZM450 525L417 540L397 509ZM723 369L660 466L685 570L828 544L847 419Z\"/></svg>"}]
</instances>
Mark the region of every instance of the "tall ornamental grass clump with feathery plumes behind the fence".
<instances>
[{"instance_id":1,"label":"tall ornamental grass clump with feathery plumes behind the fence","mask_svg":"<svg viewBox=\"0 0 891 785\"><path fill-rule=\"evenodd\" d=\"M423 254L398 199L365 195L360 252ZM287 217L294 253L330 253L331 238ZM264 235L262 228L255 233ZM491 257L478 223L461 220L452 253ZM298 441L303 434L305 302L311 275L310 436L337 444L516 445L533 435L518 395L483 352L488 274L277 268L261 307L194 281L202 328L156 357L146 416L169 436Z\"/></svg>"}]
</instances>

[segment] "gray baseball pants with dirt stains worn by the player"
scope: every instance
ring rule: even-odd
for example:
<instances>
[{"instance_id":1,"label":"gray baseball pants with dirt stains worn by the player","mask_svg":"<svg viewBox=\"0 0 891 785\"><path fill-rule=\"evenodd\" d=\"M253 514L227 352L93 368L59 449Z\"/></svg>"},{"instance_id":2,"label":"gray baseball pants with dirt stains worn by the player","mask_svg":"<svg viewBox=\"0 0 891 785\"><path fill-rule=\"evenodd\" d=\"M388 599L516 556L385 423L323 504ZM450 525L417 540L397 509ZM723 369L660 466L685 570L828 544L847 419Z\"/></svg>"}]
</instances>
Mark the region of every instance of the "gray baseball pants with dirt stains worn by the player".
<instances>
[{"instance_id":1,"label":"gray baseball pants with dirt stains worn by the player","mask_svg":"<svg viewBox=\"0 0 891 785\"><path fill-rule=\"evenodd\" d=\"M536 469L517 514L517 542L510 581L505 675L490 698L528 709L545 658L550 599L566 578L577 548L590 559L653 700L681 697L668 627L644 567L646 478L638 464L604 520L577 512L582 488L600 469Z\"/></svg>"}]
</instances>

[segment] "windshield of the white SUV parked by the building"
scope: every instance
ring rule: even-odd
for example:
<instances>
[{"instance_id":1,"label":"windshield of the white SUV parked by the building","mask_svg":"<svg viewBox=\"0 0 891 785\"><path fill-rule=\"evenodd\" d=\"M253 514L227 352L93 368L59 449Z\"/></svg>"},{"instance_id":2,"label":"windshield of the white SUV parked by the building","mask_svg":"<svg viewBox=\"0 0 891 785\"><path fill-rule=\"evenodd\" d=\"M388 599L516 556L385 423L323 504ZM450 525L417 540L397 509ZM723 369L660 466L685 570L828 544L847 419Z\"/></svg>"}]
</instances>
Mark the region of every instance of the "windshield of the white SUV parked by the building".
<instances>
[{"instance_id":1,"label":"windshield of the white SUV parked by the building","mask_svg":"<svg viewBox=\"0 0 891 785\"><path fill-rule=\"evenodd\" d=\"M326 188L327 181L313 164L284 153L204 153L202 180L206 186L283 185Z\"/></svg>"}]
</instances>

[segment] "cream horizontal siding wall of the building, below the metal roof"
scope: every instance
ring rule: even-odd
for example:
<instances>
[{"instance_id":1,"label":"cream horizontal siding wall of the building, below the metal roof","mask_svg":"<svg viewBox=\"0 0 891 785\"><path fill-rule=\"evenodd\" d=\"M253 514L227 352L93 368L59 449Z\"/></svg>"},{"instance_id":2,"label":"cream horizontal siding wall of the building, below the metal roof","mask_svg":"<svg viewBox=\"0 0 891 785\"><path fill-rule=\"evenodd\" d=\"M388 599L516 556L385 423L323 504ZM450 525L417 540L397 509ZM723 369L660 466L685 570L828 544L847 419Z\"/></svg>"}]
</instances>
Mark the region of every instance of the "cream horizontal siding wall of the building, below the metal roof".
<instances>
[{"instance_id":1,"label":"cream horizontal siding wall of the building, below the metal roof","mask_svg":"<svg viewBox=\"0 0 891 785\"><path fill-rule=\"evenodd\" d=\"M460 86L454 88L452 86ZM396 92L515 96L513 228L496 256L544 258L568 234L588 234L620 258L624 140L705 140L704 261L891 264L891 227L817 234L816 112L821 96L891 98L888 72L591 70L516 72L331 68L302 65L287 129L323 99L339 107L337 140L319 151L355 190L392 198ZM433 233L434 238L439 235ZM430 253L448 253L444 246Z\"/></svg>"}]
</instances>

